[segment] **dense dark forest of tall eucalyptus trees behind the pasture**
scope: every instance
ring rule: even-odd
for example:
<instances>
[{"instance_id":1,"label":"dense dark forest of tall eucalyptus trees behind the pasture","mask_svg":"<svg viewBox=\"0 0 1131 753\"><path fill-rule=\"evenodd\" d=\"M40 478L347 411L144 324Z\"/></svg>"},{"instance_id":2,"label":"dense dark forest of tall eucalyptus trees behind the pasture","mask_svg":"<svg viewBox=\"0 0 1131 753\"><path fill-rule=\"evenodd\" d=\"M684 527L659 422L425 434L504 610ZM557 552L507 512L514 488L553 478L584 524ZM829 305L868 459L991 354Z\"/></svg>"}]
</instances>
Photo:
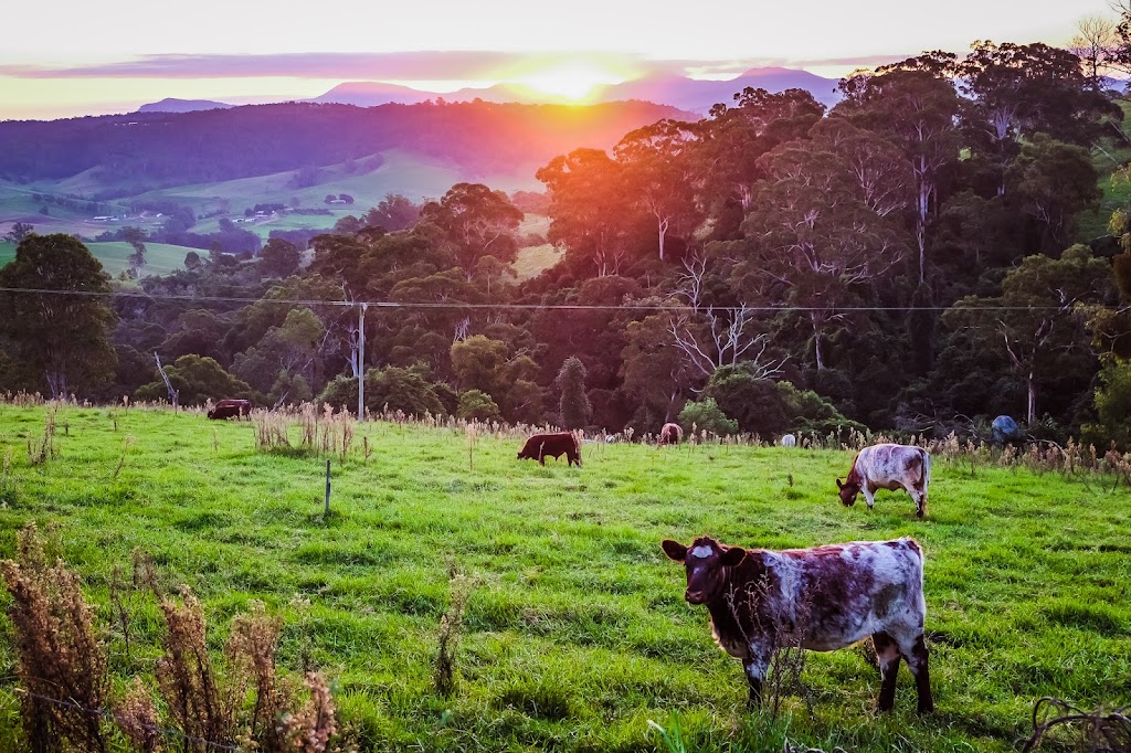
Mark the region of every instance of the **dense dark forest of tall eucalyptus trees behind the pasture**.
<instances>
[{"instance_id":1,"label":"dense dark forest of tall eucalyptus trees behind the pasture","mask_svg":"<svg viewBox=\"0 0 1131 753\"><path fill-rule=\"evenodd\" d=\"M800 89L748 88L611 152L563 149L537 179L564 254L521 283L516 197L460 183L418 213L396 214L405 200L390 197L309 250L273 239L239 260L217 244L173 275L92 278L84 289L116 291L96 314L113 323L102 339L84 330L81 349L29 323L52 296L0 297L0 389L165 399L156 353L185 405L354 407L364 370L371 409L415 414L639 433L679 418L763 438L976 432L1004 414L1030 436L1125 445L1131 207L1110 235L1079 232L1100 180L1126 180L1122 98L1071 52L990 42L860 71L839 89L827 110ZM191 116L234 144L250 137L222 119L243 110ZM163 156L164 118L146 121L154 141L130 157L150 155L154 176L184 156ZM415 128L437 148L458 142ZM320 148L372 152L363 132L343 127ZM0 142L2 170L46 158ZM45 283L32 259L64 237L25 239L0 285L78 285ZM359 308L323 301L396 304L368 309L363 364ZM563 386L578 380L584 398L567 406Z\"/></svg>"}]
</instances>

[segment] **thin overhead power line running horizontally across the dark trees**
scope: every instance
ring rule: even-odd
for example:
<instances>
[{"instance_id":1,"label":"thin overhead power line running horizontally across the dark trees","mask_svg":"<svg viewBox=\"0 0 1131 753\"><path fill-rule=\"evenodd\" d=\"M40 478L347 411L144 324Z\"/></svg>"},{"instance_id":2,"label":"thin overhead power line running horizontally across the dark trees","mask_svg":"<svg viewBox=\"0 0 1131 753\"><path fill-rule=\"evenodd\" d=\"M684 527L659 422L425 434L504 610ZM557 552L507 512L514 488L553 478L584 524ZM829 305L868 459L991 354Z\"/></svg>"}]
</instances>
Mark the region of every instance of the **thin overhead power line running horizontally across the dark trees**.
<instances>
[{"instance_id":1,"label":"thin overhead power line running horizontally across the dark trees","mask_svg":"<svg viewBox=\"0 0 1131 753\"><path fill-rule=\"evenodd\" d=\"M137 298L143 301L184 301L189 303L277 303L282 305L303 306L339 306L353 309L357 306L372 306L374 309L422 309L422 310L515 310L515 311L672 311L694 313L697 311L749 311L758 313L785 313L785 312L811 312L811 311L834 311L834 312L895 312L895 311L949 311L953 306L795 306L795 305L768 305L768 306L691 306L677 304L654 304L654 303L621 303L621 304L584 304L584 303L456 303L438 301L326 301L321 298L254 298L250 296L227 296L227 295L150 295L148 293L110 292L100 291L50 291L34 287L0 287L0 293L27 294L27 295L72 295L85 297L106 298ZM961 311L1061 311L1063 306L961 306Z\"/></svg>"}]
</instances>

